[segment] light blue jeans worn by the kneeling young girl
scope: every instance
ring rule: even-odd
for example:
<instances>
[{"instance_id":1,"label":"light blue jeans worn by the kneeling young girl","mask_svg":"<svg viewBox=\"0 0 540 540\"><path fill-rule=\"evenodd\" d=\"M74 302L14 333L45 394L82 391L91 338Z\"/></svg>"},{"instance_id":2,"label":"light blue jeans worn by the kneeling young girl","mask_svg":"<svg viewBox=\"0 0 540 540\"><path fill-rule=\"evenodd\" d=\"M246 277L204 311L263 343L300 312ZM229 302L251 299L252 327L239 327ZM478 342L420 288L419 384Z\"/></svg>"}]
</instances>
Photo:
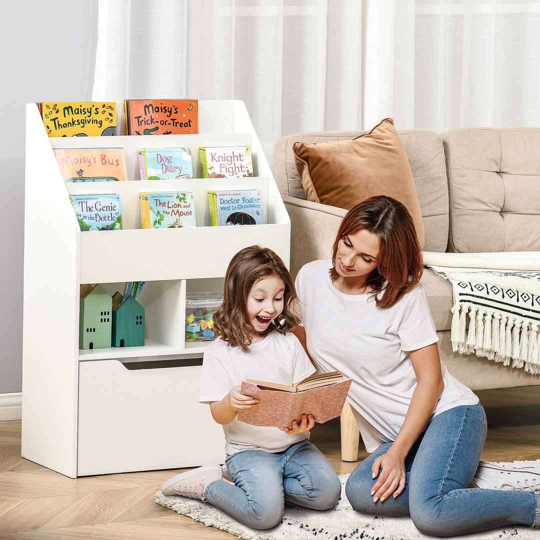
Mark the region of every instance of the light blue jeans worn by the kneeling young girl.
<instances>
[{"instance_id":1,"label":"light blue jeans worn by the kneeling young girl","mask_svg":"<svg viewBox=\"0 0 540 540\"><path fill-rule=\"evenodd\" d=\"M234 484L212 482L206 501L252 529L280 523L285 501L327 510L341 495L332 464L308 441L276 453L242 450L227 456L226 463Z\"/></svg>"}]
</instances>

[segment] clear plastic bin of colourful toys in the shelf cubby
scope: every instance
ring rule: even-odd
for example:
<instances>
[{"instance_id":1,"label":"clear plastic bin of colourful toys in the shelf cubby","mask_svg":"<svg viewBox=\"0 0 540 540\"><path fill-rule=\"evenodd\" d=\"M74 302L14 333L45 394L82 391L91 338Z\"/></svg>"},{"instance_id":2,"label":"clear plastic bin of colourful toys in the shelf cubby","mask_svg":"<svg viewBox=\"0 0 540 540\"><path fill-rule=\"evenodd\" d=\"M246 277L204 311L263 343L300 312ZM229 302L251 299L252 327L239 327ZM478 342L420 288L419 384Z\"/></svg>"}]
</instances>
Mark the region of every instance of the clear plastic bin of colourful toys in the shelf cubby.
<instances>
[{"instance_id":1,"label":"clear plastic bin of colourful toys in the shelf cubby","mask_svg":"<svg viewBox=\"0 0 540 540\"><path fill-rule=\"evenodd\" d=\"M215 339L213 316L223 301L223 293L186 293L186 341Z\"/></svg>"}]
</instances>

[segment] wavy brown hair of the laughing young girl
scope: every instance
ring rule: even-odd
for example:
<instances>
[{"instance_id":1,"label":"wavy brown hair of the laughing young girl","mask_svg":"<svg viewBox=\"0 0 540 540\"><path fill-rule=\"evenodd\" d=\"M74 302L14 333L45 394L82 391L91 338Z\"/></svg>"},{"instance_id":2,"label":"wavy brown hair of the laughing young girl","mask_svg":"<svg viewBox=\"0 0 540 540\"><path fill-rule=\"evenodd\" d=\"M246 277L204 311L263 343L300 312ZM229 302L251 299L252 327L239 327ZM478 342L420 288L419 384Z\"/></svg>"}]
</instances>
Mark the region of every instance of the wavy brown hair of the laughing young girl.
<instances>
[{"instance_id":1,"label":"wavy brown hair of the laughing young girl","mask_svg":"<svg viewBox=\"0 0 540 540\"><path fill-rule=\"evenodd\" d=\"M285 284L283 311L266 329L265 334L277 330L281 334L290 332L299 324L295 314L298 300L294 281L279 255L261 246L249 246L241 249L231 259L225 274L223 302L214 313L215 329L221 339L231 347L241 347L248 351L251 345L251 333L254 328L248 320L247 298L249 291L261 279L276 276Z\"/></svg>"}]
</instances>

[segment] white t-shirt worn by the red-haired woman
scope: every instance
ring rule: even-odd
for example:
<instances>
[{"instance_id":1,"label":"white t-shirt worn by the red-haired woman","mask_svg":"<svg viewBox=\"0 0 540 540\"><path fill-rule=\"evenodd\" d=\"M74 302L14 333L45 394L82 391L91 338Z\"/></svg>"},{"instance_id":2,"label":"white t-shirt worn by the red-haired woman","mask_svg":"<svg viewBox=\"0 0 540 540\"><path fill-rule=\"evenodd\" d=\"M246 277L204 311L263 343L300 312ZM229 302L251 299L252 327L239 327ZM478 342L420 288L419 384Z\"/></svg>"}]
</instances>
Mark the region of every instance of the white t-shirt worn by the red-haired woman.
<instances>
[{"instance_id":1,"label":"white t-shirt worn by the red-haired woman","mask_svg":"<svg viewBox=\"0 0 540 540\"><path fill-rule=\"evenodd\" d=\"M393 442L416 388L408 351L438 341L424 288L417 285L390 308L378 308L370 294L350 295L330 280L332 261L313 261L296 277L307 348L323 371L351 377L347 401L353 407L368 452ZM431 417L478 397L448 373Z\"/></svg>"}]
</instances>

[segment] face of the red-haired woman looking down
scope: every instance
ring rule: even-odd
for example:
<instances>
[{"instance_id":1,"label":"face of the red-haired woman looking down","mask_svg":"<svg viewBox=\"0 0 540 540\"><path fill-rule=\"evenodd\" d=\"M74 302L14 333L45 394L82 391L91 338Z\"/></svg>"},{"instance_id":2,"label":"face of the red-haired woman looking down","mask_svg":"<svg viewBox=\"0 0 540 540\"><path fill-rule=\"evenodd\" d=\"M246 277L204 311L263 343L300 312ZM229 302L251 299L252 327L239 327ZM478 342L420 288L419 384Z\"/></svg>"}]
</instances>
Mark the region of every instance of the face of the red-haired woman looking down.
<instances>
[{"instance_id":1,"label":"face of the red-haired woman looking down","mask_svg":"<svg viewBox=\"0 0 540 540\"><path fill-rule=\"evenodd\" d=\"M343 278L367 276L377 267L379 251L379 237L359 229L338 242L335 270Z\"/></svg>"}]
</instances>

